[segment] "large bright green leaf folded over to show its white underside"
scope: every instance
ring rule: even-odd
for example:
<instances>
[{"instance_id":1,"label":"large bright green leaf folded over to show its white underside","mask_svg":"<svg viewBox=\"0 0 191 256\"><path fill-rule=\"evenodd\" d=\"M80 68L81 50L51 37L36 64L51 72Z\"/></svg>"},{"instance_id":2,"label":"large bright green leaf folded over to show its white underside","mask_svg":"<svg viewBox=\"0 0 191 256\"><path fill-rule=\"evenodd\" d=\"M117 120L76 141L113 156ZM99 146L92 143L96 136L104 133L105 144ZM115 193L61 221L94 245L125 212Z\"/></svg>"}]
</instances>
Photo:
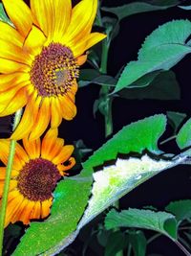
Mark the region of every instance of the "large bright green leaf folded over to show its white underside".
<instances>
[{"instance_id":1,"label":"large bright green leaf folded over to show its white underside","mask_svg":"<svg viewBox=\"0 0 191 256\"><path fill-rule=\"evenodd\" d=\"M145 150L159 157L161 151L158 149L158 140L164 132L165 124L164 115L155 115L122 128L83 163L80 175L65 178L58 183L53 193L51 216L43 222L32 222L12 255L53 255L59 252L74 241L85 223L117 198L160 171L180 164L185 158L156 160L147 154L116 161L118 153L142 154ZM114 164L108 168L103 167L103 171L94 174L96 182L93 196L81 219L91 194L94 169L110 160L115 160L117 166ZM126 167L121 168L118 163Z\"/></svg>"}]
</instances>

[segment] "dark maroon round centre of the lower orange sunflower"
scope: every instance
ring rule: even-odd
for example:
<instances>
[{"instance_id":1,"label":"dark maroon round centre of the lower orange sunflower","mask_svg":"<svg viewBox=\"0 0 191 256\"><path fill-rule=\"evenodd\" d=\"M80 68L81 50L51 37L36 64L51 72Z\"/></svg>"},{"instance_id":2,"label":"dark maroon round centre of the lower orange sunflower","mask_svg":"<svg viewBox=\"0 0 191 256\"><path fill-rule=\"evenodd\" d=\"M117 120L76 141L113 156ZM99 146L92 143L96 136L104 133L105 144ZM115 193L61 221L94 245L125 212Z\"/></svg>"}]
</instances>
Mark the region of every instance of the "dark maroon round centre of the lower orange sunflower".
<instances>
[{"instance_id":1,"label":"dark maroon round centre of the lower orange sunflower","mask_svg":"<svg viewBox=\"0 0 191 256\"><path fill-rule=\"evenodd\" d=\"M33 201L52 198L56 182L61 178L52 162L43 158L30 160L18 175L18 189Z\"/></svg>"}]
</instances>

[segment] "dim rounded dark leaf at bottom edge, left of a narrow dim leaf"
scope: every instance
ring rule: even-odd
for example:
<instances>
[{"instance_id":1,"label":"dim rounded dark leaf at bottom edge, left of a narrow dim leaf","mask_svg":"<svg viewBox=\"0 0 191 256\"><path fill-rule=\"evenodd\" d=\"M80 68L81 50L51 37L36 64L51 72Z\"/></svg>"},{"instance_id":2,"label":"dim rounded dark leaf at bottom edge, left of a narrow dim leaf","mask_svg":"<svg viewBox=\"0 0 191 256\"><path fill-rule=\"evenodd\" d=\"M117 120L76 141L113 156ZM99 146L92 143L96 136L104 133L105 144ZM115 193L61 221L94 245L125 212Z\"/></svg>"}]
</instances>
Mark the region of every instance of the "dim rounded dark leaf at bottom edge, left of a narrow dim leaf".
<instances>
[{"instance_id":1,"label":"dim rounded dark leaf at bottom edge, left of a narrow dim leaf","mask_svg":"<svg viewBox=\"0 0 191 256\"><path fill-rule=\"evenodd\" d=\"M123 250L126 246L127 239L125 235L120 231L116 231L108 238L104 256L116 256L117 252Z\"/></svg>"}]
</instances>

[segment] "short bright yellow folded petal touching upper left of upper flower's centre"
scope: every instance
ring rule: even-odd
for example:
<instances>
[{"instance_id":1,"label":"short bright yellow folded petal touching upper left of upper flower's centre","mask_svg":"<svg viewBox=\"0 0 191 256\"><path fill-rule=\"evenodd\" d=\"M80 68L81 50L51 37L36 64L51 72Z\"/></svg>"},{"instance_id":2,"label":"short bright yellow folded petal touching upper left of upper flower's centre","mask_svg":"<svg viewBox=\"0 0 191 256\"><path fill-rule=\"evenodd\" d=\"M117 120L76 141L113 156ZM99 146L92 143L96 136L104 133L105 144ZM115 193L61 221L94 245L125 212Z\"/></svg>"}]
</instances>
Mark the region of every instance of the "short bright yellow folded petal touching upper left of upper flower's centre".
<instances>
[{"instance_id":1,"label":"short bright yellow folded petal touching upper left of upper flower's centre","mask_svg":"<svg viewBox=\"0 0 191 256\"><path fill-rule=\"evenodd\" d=\"M36 26L32 26L32 30L27 36L23 48L30 54L36 56L40 54L45 40L46 36Z\"/></svg>"}]
</instances>

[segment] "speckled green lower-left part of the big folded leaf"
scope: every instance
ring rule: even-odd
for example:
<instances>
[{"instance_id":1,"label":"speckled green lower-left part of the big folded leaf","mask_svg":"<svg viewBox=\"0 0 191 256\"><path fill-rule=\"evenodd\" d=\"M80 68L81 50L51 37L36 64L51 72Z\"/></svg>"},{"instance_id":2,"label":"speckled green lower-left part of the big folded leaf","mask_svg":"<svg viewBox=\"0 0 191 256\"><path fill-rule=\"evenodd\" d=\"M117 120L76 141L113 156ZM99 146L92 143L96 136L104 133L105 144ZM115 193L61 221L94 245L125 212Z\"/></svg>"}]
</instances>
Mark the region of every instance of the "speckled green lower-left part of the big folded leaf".
<instances>
[{"instance_id":1,"label":"speckled green lower-left part of the big folded leaf","mask_svg":"<svg viewBox=\"0 0 191 256\"><path fill-rule=\"evenodd\" d=\"M12 255L41 255L43 252L51 255L46 251L55 245L59 247L63 240L70 241L88 201L91 184L92 181L88 179L59 182L53 193L51 216L43 222L32 222Z\"/></svg>"}]
</instances>

